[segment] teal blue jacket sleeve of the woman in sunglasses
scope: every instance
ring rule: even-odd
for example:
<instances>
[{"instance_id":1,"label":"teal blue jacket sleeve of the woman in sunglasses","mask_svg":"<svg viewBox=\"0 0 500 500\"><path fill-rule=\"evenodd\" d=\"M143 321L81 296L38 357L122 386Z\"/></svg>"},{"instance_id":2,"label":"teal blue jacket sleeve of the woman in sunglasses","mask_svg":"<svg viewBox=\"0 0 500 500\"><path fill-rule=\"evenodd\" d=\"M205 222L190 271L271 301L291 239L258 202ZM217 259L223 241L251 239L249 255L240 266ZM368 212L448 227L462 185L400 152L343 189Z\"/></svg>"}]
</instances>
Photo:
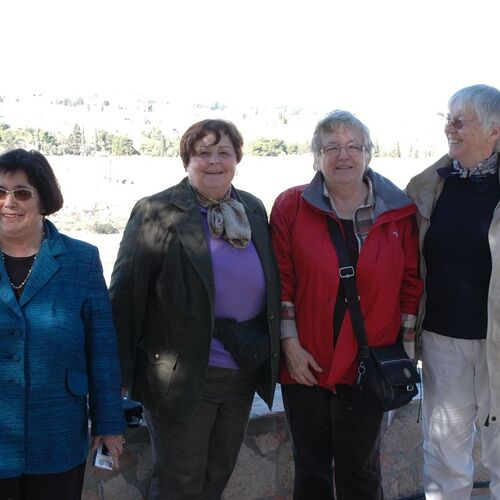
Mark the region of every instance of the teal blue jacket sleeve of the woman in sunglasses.
<instances>
[{"instance_id":1,"label":"teal blue jacket sleeve of the woman in sunglasses","mask_svg":"<svg viewBox=\"0 0 500 500\"><path fill-rule=\"evenodd\" d=\"M83 323L89 377L92 435L119 435L125 430L120 363L108 289L97 249L88 277Z\"/></svg>"}]
</instances>

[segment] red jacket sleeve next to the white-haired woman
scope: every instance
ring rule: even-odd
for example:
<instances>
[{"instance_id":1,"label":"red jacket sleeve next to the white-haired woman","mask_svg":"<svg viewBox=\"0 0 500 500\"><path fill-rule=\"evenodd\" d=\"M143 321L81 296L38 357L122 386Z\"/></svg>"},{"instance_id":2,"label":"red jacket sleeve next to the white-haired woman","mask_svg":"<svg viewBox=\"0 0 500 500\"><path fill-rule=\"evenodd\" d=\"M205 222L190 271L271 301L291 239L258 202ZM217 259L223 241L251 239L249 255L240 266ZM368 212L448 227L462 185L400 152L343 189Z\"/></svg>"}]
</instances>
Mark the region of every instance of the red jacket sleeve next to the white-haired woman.
<instances>
[{"instance_id":1,"label":"red jacket sleeve next to the white-haired woman","mask_svg":"<svg viewBox=\"0 0 500 500\"><path fill-rule=\"evenodd\" d=\"M405 255L400 307L403 314L416 317L420 297L422 296L423 283L419 273L418 229L414 215L402 220L400 232L403 235L403 250Z\"/></svg>"}]
</instances>

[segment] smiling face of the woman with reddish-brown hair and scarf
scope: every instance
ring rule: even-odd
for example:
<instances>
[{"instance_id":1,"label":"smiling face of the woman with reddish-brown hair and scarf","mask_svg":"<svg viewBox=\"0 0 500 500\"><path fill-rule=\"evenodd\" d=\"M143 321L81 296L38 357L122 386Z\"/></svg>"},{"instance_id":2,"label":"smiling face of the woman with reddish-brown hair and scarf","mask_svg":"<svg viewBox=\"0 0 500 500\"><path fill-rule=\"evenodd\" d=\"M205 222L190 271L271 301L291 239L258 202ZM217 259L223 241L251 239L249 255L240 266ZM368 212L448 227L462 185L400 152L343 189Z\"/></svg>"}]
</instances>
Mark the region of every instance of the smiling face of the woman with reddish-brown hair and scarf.
<instances>
[{"instance_id":1,"label":"smiling face of the woman with reddish-brown hair and scarf","mask_svg":"<svg viewBox=\"0 0 500 500\"><path fill-rule=\"evenodd\" d=\"M194 144L186 171L189 180L204 195L221 200L236 173L236 153L226 134L214 144L215 134L209 133Z\"/></svg>"}]
</instances>

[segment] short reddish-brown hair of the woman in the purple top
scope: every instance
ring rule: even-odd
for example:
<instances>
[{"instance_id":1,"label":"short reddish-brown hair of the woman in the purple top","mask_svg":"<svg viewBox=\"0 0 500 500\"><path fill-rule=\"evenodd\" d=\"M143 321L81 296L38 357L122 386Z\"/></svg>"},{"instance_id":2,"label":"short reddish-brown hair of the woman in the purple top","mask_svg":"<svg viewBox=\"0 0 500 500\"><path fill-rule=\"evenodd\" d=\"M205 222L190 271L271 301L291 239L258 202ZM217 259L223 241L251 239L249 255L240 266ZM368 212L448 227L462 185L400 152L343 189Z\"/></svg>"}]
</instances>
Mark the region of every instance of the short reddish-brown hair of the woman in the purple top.
<instances>
[{"instance_id":1,"label":"short reddish-brown hair of the woman in the purple top","mask_svg":"<svg viewBox=\"0 0 500 500\"><path fill-rule=\"evenodd\" d=\"M208 134L215 135L214 144L218 144L222 134L226 134L233 144L236 153L236 162L243 157L243 137L236 125L227 120L202 120L191 125L182 135L180 153L184 168L189 165L189 159L195 153L194 145Z\"/></svg>"}]
</instances>

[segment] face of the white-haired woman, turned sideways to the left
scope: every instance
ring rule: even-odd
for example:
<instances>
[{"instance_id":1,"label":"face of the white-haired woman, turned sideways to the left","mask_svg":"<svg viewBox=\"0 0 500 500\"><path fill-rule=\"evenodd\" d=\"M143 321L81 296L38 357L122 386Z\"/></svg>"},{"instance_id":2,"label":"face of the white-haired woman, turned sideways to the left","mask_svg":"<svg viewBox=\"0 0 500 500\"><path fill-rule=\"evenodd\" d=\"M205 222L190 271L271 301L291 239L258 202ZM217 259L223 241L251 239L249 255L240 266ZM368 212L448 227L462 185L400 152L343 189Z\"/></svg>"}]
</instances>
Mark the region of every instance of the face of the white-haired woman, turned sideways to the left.
<instances>
[{"instance_id":1,"label":"face of the white-haired woman, turned sideways to the left","mask_svg":"<svg viewBox=\"0 0 500 500\"><path fill-rule=\"evenodd\" d=\"M457 107L450 109L444 132L450 158L458 160L464 168L473 168L492 155L499 130L498 127L484 130L472 109Z\"/></svg>"}]
</instances>

